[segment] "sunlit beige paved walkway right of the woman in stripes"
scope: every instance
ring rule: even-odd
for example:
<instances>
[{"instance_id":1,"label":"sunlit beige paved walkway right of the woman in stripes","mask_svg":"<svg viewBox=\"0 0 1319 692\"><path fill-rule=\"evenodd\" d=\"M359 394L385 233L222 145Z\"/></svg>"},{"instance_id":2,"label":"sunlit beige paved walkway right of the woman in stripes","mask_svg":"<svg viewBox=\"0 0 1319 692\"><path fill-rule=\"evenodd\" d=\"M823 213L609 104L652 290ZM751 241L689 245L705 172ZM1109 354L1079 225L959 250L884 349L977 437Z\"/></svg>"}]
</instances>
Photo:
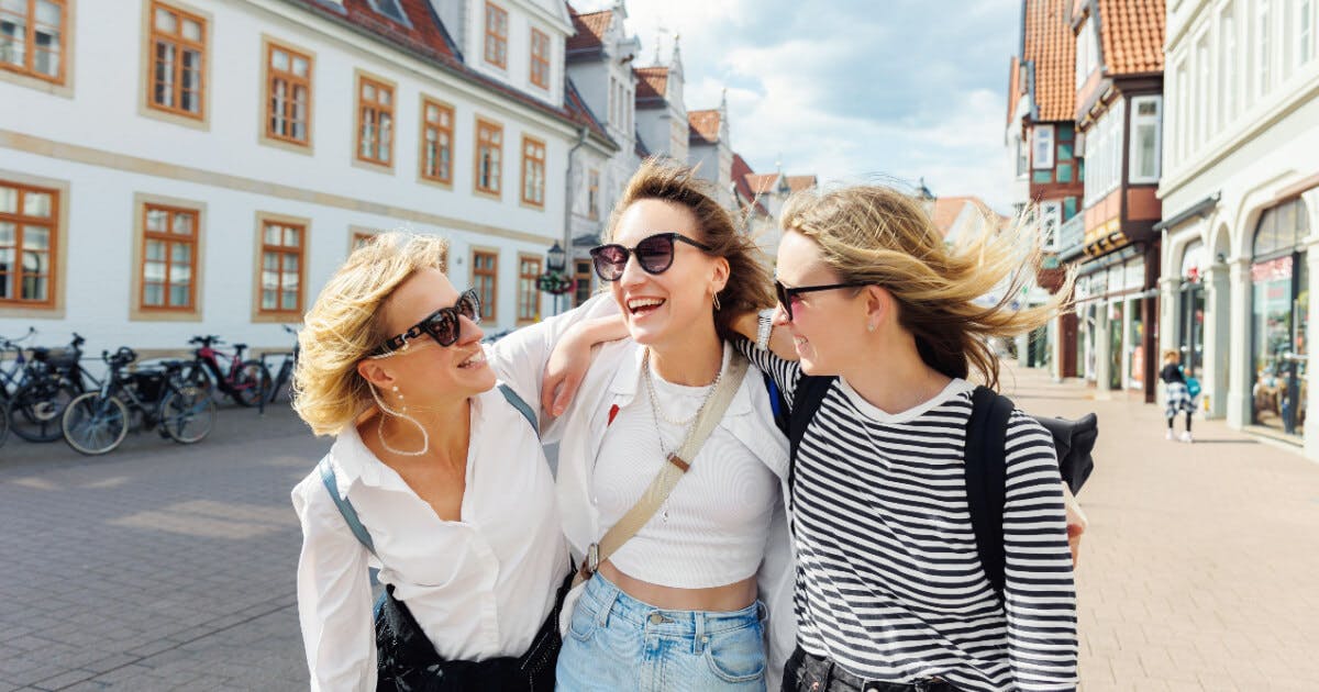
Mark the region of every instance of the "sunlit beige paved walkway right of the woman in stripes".
<instances>
[{"instance_id":1,"label":"sunlit beige paved walkway right of the woman in stripes","mask_svg":"<svg viewBox=\"0 0 1319 692\"><path fill-rule=\"evenodd\" d=\"M1006 369L1034 414L1099 414L1078 568L1083 689L1319 689L1319 465L1162 410ZM1181 431L1182 418L1178 419Z\"/></svg>"}]
</instances>

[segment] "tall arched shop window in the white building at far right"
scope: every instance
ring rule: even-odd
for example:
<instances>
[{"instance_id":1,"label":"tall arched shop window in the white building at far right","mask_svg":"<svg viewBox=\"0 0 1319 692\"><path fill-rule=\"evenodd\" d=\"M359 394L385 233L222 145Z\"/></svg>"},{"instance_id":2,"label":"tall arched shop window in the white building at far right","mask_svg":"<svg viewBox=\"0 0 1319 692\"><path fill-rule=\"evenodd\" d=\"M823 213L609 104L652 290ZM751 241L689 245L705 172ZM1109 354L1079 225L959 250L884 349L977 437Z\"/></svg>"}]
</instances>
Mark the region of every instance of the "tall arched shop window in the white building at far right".
<instances>
[{"instance_id":1,"label":"tall arched shop window in the white building at far right","mask_svg":"<svg viewBox=\"0 0 1319 692\"><path fill-rule=\"evenodd\" d=\"M1268 210L1254 237L1250 266L1253 420L1302 435L1306 419L1306 326L1308 275L1304 237L1306 208L1297 199Z\"/></svg>"}]
</instances>

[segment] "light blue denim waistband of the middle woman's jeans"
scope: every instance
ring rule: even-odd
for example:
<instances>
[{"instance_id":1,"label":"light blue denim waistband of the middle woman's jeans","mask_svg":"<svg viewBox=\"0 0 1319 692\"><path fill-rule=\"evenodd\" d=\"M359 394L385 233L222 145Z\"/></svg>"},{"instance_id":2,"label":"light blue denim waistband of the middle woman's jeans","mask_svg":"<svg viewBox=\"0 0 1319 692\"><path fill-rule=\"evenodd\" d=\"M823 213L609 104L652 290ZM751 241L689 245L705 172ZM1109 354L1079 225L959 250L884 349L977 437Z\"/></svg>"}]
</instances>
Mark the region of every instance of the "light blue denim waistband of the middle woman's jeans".
<instances>
[{"instance_id":1,"label":"light blue denim waistband of the middle woman's jeans","mask_svg":"<svg viewBox=\"0 0 1319 692\"><path fill-rule=\"evenodd\" d=\"M765 604L760 600L741 610L671 610L628 596L599 572L587 581L582 598L591 601L601 625L619 618L648 634L685 639L737 630L765 620Z\"/></svg>"}]
</instances>

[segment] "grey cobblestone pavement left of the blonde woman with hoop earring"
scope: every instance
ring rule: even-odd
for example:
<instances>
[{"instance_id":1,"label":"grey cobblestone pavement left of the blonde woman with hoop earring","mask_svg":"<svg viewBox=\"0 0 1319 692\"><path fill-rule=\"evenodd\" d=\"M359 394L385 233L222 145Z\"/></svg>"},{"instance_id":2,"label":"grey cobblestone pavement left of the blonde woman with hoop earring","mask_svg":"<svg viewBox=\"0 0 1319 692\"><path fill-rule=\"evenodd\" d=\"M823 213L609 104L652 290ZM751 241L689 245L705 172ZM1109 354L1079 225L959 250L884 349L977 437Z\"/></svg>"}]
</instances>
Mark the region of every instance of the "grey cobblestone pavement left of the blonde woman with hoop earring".
<instances>
[{"instance_id":1,"label":"grey cobblestone pavement left of the blonde woman with hoop earring","mask_svg":"<svg viewBox=\"0 0 1319 692\"><path fill-rule=\"evenodd\" d=\"M286 405L183 447L0 447L0 691L306 689L289 490L328 447Z\"/></svg>"}]
</instances>

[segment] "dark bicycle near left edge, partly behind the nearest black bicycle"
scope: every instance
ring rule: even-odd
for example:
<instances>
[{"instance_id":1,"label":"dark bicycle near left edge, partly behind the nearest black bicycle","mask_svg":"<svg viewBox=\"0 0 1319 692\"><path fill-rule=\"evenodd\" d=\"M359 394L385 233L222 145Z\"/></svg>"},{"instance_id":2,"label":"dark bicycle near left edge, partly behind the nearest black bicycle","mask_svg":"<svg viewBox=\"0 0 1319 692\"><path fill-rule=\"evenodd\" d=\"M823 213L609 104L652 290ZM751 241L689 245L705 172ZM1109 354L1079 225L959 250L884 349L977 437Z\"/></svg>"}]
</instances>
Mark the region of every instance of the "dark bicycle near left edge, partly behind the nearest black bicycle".
<instances>
[{"instance_id":1,"label":"dark bicycle near left edge, partly behind the nearest black bicycle","mask_svg":"<svg viewBox=\"0 0 1319 692\"><path fill-rule=\"evenodd\" d=\"M24 364L20 382L9 397L9 428L15 435L28 442L59 439L59 417L69 402L86 391L88 382L100 385L82 366L84 343L74 332L63 349L30 348L32 357Z\"/></svg>"}]
</instances>

